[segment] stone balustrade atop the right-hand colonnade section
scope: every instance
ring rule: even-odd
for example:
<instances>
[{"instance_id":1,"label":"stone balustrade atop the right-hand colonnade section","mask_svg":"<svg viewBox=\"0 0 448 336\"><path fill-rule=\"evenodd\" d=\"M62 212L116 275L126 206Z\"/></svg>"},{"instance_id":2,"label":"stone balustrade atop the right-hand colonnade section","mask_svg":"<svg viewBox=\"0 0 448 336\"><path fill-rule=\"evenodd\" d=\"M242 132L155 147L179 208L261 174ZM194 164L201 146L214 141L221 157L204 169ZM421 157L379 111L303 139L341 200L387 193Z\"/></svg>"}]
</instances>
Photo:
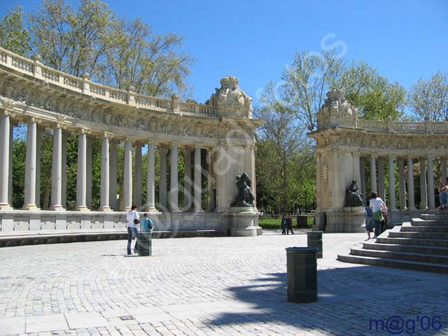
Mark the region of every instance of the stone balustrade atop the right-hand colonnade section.
<instances>
[{"instance_id":1,"label":"stone balustrade atop the right-hand colonnade section","mask_svg":"<svg viewBox=\"0 0 448 336\"><path fill-rule=\"evenodd\" d=\"M387 132L434 132L447 133L448 122L433 121L382 121L382 120L365 120L358 119L357 128L369 129L371 131L387 131Z\"/></svg>"}]
</instances>

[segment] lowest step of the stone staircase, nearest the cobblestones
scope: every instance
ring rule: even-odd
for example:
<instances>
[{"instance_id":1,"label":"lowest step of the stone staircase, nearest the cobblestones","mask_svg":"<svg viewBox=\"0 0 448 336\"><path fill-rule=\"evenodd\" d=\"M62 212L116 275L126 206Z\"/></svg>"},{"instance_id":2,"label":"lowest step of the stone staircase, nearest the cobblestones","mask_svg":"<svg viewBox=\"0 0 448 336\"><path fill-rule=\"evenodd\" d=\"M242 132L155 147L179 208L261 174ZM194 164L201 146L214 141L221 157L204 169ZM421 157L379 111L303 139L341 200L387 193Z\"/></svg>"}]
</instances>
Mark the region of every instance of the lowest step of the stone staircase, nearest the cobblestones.
<instances>
[{"instance_id":1,"label":"lowest step of the stone staircase, nearest the cobblestones","mask_svg":"<svg viewBox=\"0 0 448 336\"><path fill-rule=\"evenodd\" d=\"M405 260L363 257L360 255L338 255L340 262L350 262L352 264L364 264L372 266L387 266L398 269L412 269L416 271L448 273L448 265L430 264L426 262L409 262Z\"/></svg>"}]
</instances>

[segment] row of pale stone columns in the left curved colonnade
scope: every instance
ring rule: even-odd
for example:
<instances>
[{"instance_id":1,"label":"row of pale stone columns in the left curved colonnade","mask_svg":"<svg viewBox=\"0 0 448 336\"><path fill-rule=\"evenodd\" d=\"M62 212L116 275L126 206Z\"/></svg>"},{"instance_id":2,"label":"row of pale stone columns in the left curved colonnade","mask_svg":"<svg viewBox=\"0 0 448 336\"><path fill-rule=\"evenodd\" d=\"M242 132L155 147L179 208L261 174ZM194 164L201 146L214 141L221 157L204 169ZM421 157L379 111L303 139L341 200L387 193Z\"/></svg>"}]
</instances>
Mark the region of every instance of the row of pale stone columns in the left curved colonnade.
<instances>
[{"instance_id":1,"label":"row of pale stone columns in the left curved colonnade","mask_svg":"<svg viewBox=\"0 0 448 336\"><path fill-rule=\"evenodd\" d=\"M30 118L28 121L28 132L26 141L26 171L25 171L25 203L24 210L39 210L40 183L39 169L40 156L37 155L37 148L40 147L40 137L37 136L39 123L41 120ZM1 209L12 209L10 206L10 195L12 185L12 161L10 160L12 143L11 114L3 113L0 115L0 205ZM64 211L66 207L65 188L63 188L66 178L66 136L67 131L63 129L61 123L54 123L53 127L53 145L52 145L52 188L50 209L54 211ZM92 204L92 138L88 129L79 129L78 134L78 167L77 167L77 204L78 211L90 211ZM125 138L123 141L114 138L114 134L103 132L101 136L101 185L100 185L100 203L99 211L121 210L128 211L132 204L136 204L145 211L181 211L179 206L178 176L179 176L179 158L178 149L182 149L185 155L185 186L183 193L185 195L186 207L183 210L194 210L203 212L202 207L202 178L203 168L201 165L201 151L211 151L211 148L205 148L200 144L183 145L180 143L154 143L147 142L147 196L146 204L142 204L142 145L141 141L132 141ZM98 137L99 137L98 136ZM65 141L63 139L65 138ZM90 146L88 147L88 143ZM121 209L117 207L117 171L116 156L117 145L123 143L124 161L123 161L123 192L121 195ZM134 171L132 171L132 147L134 148ZM155 198L155 154L159 149L160 171L159 176L159 204L156 204ZM90 149L90 150L88 150ZM170 190L167 189L167 180L164 178L167 171L167 149L170 149ZM192 157L194 160L192 160ZM192 169L193 168L193 169ZM88 172L90 171L90 178ZM63 174L64 173L64 174ZM64 176L63 176L64 175ZM134 179L132 176L134 175ZM65 178L63 178L65 177ZM134 180L134 183L132 181ZM214 185L208 185L208 191ZM90 195L90 202L88 201ZM170 196L167 198L167 196ZM169 202L167 200L169 199ZM215 201L210 200L211 203ZM142 208L142 206L144 206ZM214 210L208 207L207 210Z\"/></svg>"}]
</instances>

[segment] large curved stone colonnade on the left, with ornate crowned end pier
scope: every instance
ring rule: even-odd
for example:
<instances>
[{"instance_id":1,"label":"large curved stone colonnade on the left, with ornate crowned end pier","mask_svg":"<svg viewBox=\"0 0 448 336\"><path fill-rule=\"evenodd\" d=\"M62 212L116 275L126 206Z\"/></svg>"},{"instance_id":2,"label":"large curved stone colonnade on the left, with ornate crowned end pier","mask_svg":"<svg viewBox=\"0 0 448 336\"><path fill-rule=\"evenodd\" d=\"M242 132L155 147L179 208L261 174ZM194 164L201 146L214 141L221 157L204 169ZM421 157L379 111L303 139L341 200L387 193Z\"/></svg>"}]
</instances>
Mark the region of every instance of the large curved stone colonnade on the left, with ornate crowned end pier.
<instances>
[{"instance_id":1,"label":"large curved stone colonnade on the left, with ornate crowned end pier","mask_svg":"<svg viewBox=\"0 0 448 336\"><path fill-rule=\"evenodd\" d=\"M23 209L12 209L12 127L18 123L27 125L26 180ZM123 211L136 204L152 214L156 230L230 232L235 216L230 211L231 203L238 191L236 176L245 171L256 195L254 132L258 125L261 122L252 118L252 99L232 76L221 79L221 88L207 104L187 103L177 96L156 98L132 92L132 88L118 90L94 83L88 74L82 78L70 76L43 65L38 55L30 60L0 48L0 231L121 229L125 227ZM53 134L50 211L39 209L43 129L52 129ZM68 134L78 137L76 211L66 210ZM101 196L95 211L94 138L101 139ZM124 158L118 204L116 169L120 145ZM156 151L160 156L158 201ZM207 151L208 171L201 166L203 151ZM141 169L142 153L147 155L147 171ZM182 186L179 155L185 156ZM169 180L165 178L168 161ZM142 174L147 174L145 204ZM203 178L207 178L206 190ZM179 202L181 189L183 202ZM210 196L207 209L203 209L204 191ZM255 230L248 228L250 235L259 232L255 201L252 210L250 223Z\"/></svg>"}]
</instances>

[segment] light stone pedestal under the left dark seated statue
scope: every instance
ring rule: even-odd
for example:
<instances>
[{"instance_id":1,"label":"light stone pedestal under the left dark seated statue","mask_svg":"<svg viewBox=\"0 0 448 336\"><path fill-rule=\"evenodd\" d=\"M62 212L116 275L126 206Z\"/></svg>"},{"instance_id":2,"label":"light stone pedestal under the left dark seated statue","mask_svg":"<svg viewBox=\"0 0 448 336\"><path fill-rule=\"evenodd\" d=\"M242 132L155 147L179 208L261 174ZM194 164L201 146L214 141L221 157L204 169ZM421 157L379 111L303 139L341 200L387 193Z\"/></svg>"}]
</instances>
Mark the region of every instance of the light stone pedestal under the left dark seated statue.
<instances>
[{"instance_id":1,"label":"light stone pedestal under the left dark seated statue","mask_svg":"<svg viewBox=\"0 0 448 336\"><path fill-rule=\"evenodd\" d=\"M260 213L254 207L231 207L230 235L233 237L254 237L262 234L258 227Z\"/></svg>"}]
</instances>

